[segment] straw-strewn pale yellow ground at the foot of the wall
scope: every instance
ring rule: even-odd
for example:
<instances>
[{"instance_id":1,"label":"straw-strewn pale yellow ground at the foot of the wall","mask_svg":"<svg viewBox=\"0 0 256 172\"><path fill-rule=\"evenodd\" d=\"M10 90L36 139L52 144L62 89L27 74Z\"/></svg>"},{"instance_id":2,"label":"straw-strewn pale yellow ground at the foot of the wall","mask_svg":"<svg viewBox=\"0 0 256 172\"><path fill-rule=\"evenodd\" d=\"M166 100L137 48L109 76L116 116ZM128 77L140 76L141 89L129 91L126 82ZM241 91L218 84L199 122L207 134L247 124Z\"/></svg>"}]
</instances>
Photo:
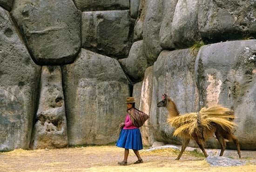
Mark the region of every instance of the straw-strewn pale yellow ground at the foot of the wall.
<instances>
[{"instance_id":1,"label":"straw-strewn pale yellow ground at the foot of the wall","mask_svg":"<svg viewBox=\"0 0 256 172\"><path fill-rule=\"evenodd\" d=\"M256 164L210 167L200 153L185 152L175 161L178 151L172 149L146 152L141 150L142 164L130 151L128 166L117 165L123 159L123 149L116 146L34 150L17 149L0 153L0 172L256 172ZM247 160L247 159L243 159Z\"/></svg>"}]
</instances>

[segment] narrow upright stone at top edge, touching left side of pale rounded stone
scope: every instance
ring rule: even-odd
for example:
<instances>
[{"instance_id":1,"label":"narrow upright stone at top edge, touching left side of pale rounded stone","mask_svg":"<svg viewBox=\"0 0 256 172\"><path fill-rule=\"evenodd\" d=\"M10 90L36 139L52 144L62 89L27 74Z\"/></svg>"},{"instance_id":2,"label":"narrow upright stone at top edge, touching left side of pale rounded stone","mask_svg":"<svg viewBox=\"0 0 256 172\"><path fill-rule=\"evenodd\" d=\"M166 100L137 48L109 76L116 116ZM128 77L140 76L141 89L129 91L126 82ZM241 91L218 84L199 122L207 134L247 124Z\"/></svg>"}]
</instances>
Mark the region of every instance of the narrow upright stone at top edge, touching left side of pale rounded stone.
<instances>
[{"instance_id":1,"label":"narrow upright stone at top edge, touching left side of pale rounded stone","mask_svg":"<svg viewBox=\"0 0 256 172\"><path fill-rule=\"evenodd\" d=\"M160 45L163 49L175 48L172 40L172 20L178 0L164 0L163 19L160 28Z\"/></svg>"}]
</instances>

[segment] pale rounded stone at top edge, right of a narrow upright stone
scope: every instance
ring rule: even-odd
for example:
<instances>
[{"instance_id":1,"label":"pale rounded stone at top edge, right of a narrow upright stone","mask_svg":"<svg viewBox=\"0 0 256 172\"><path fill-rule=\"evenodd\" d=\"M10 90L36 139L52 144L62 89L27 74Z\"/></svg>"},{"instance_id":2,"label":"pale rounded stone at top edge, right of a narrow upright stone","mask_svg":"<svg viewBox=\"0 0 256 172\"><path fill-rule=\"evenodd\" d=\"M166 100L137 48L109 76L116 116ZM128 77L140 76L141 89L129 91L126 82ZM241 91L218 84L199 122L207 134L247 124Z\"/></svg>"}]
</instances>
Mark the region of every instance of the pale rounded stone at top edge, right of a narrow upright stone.
<instances>
[{"instance_id":1,"label":"pale rounded stone at top edge, right of a narrow upright stone","mask_svg":"<svg viewBox=\"0 0 256 172\"><path fill-rule=\"evenodd\" d=\"M179 0L172 20L172 39L176 48L187 48L201 40L197 13L199 0Z\"/></svg>"}]
</instances>

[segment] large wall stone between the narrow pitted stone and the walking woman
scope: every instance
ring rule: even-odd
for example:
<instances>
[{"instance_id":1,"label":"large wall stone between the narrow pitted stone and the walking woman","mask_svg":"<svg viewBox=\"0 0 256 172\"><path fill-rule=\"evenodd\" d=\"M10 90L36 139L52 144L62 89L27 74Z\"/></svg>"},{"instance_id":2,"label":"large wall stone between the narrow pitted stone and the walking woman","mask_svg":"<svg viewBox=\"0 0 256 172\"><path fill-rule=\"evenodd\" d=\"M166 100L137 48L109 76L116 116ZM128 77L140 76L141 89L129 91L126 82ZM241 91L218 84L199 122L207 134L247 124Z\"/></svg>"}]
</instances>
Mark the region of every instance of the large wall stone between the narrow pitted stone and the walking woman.
<instances>
[{"instance_id":1,"label":"large wall stone between the narrow pitted stone and the walking woman","mask_svg":"<svg viewBox=\"0 0 256 172\"><path fill-rule=\"evenodd\" d=\"M108 144L126 116L129 82L118 61L88 50L62 67L69 145Z\"/></svg>"}]
</instances>

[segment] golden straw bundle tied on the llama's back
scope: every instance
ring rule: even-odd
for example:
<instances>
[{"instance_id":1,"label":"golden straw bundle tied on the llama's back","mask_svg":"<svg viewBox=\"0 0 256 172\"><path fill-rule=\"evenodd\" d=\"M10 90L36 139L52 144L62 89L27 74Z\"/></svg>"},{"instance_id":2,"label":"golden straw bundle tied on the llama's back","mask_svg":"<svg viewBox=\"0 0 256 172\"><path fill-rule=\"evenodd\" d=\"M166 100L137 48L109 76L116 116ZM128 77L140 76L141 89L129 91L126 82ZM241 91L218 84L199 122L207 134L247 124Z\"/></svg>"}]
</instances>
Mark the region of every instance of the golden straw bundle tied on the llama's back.
<instances>
[{"instance_id":1,"label":"golden straw bundle tied on the llama's back","mask_svg":"<svg viewBox=\"0 0 256 172\"><path fill-rule=\"evenodd\" d=\"M215 127L221 127L225 132L232 133L236 124L232 122L235 118L233 112L229 108L220 105L203 107L199 112L201 124L198 124L198 116L196 112L186 113L177 117L168 119L168 123L175 127L174 136L182 138L191 137L192 134L201 134L201 129L207 132ZM199 126L201 125L201 126Z\"/></svg>"}]
</instances>

